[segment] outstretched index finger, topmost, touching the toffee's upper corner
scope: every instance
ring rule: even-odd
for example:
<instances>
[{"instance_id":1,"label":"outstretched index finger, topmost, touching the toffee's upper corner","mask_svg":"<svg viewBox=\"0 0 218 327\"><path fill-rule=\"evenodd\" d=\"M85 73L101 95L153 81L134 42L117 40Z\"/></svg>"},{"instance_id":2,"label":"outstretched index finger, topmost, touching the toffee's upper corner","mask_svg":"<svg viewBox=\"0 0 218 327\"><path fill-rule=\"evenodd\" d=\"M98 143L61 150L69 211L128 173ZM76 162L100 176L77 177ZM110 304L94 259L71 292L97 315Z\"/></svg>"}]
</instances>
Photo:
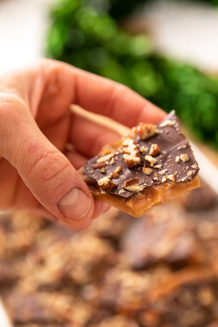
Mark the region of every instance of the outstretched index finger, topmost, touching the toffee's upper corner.
<instances>
[{"instance_id":1,"label":"outstretched index finger, topmost, touching the toffee's upper corner","mask_svg":"<svg viewBox=\"0 0 218 327\"><path fill-rule=\"evenodd\" d=\"M108 116L128 127L140 121L156 124L166 113L138 93L120 83L74 68L76 104Z\"/></svg>"}]
</instances>

